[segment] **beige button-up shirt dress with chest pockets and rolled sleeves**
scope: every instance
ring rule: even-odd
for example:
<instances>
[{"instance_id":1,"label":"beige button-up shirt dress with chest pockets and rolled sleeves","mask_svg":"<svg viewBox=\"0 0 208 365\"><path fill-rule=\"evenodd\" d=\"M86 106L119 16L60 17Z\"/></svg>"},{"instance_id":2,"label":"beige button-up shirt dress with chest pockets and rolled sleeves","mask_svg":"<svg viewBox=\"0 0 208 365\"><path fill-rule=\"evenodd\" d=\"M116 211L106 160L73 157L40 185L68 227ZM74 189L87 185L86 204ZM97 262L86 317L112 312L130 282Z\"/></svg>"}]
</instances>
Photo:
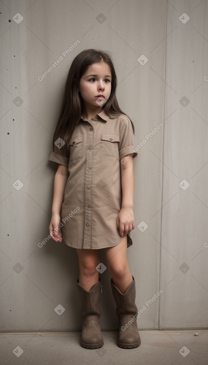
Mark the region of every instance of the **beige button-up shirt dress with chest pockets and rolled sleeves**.
<instances>
[{"instance_id":1,"label":"beige button-up shirt dress with chest pockets and rolled sleeves","mask_svg":"<svg viewBox=\"0 0 208 365\"><path fill-rule=\"evenodd\" d=\"M49 157L69 171L61 209L63 240L76 249L116 246L123 240L117 228L122 203L120 160L135 149L131 121L124 114L111 118L104 110L90 122L80 118L69 145L70 156L59 148ZM127 238L129 247L130 233Z\"/></svg>"}]
</instances>

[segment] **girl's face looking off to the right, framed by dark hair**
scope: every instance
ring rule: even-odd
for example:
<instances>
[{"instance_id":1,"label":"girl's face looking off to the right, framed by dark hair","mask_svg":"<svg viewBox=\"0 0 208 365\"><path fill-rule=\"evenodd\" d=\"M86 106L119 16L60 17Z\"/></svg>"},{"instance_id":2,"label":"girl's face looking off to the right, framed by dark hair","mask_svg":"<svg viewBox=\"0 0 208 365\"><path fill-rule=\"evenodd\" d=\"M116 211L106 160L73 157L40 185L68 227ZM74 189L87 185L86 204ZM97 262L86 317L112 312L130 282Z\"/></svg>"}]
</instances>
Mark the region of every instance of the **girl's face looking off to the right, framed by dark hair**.
<instances>
[{"instance_id":1,"label":"girl's face looking off to the right, framed by dark hair","mask_svg":"<svg viewBox=\"0 0 208 365\"><path fill-rule=\"evenodd\" d=\"M85 108L103 106L111 94L111 69L105 62L90 65L79 81ZM102 95L102 96L101 96Z\"/></svg>"}]
</instances>

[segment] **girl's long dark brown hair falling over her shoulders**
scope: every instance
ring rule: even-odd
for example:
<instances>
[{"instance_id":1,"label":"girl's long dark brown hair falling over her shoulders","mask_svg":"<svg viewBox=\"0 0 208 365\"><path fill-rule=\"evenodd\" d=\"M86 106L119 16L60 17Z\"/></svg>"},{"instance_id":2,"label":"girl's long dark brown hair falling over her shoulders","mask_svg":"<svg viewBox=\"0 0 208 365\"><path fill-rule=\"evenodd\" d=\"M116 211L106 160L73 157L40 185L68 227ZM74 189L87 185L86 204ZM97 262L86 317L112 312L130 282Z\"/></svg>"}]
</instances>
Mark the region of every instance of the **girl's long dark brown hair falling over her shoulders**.
<instances>
[{"instance_id":1,"label":"girl's long dark brown hair falling over her shoulders","mask_svg":"<svg viewBox=\"0 0 208 365\"><path fill-rule=\"evenodd\" d=\"M111 118L113 118L112 115L115 115L115 117L120 114L127 115L120 109L116 98L117 77L111 57L106 51L85 49L73 59L69 69L58 123L54 132L54 152L58 152L58 148L55 145L56 140L58 138L62 138L65 142L65 145L62 147L62 153L66 156L69 155L69 139L71 138L74 128L78 124L83 112L83 101L80 93L78 92L79 81L90 65L102 61L110 66L112 76L111 94L103 106L103 110L106 114L110 115ZM131 123L135 133L134 124L132 121Z\"/></svg>"}]
</instances>

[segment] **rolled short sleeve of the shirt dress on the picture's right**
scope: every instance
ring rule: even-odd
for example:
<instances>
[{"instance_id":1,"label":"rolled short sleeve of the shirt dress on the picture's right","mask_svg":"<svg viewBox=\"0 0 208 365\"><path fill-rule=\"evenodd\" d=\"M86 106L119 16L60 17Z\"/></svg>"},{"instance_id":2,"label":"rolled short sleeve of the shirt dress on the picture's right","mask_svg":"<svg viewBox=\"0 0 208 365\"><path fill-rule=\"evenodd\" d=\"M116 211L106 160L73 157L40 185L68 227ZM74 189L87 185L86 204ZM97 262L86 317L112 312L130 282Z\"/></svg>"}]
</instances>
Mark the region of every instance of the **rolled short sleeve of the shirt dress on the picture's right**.
<instances>
[{"instance_id":1,"label":"rolled short sleeve of the shirt dress on the picture's right","mask_svg":"<svg viewBox=\"0 0 208 365\"><path fill-rule=\"evenodd\" d=\"M136 157L138 155L134 144L134 132L131 120L127 118L120 125L120 142L119 142L119 157L122 159L124 156L132 155Z\"/></svg>"}]
</instances>

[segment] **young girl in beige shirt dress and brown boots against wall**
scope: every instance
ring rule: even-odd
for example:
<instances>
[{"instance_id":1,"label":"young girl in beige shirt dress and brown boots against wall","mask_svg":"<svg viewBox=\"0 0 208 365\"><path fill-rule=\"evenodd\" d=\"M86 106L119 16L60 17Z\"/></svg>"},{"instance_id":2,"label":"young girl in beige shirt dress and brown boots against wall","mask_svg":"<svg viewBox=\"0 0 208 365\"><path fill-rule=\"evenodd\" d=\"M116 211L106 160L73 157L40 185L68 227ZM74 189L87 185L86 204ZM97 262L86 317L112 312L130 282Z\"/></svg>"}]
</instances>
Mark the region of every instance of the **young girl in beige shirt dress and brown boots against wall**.
<instances>
[{"instance_id":1,"label":"young girl in beige shirt dress and brown boots against wall","mask_svg":"<svg viewBox=\"0 0 208 365\"><path fill-rule=\"evenodd\" d=\"M104 249L119 318L118 346L140 345L135 279L127 261L137 156L134 125L116 98L117 78L106 52L87 49L72 61L49 160L54 179L50 234L76 249L81 346L103 346L99 249Z\"/></svg>"}]
</instances>

